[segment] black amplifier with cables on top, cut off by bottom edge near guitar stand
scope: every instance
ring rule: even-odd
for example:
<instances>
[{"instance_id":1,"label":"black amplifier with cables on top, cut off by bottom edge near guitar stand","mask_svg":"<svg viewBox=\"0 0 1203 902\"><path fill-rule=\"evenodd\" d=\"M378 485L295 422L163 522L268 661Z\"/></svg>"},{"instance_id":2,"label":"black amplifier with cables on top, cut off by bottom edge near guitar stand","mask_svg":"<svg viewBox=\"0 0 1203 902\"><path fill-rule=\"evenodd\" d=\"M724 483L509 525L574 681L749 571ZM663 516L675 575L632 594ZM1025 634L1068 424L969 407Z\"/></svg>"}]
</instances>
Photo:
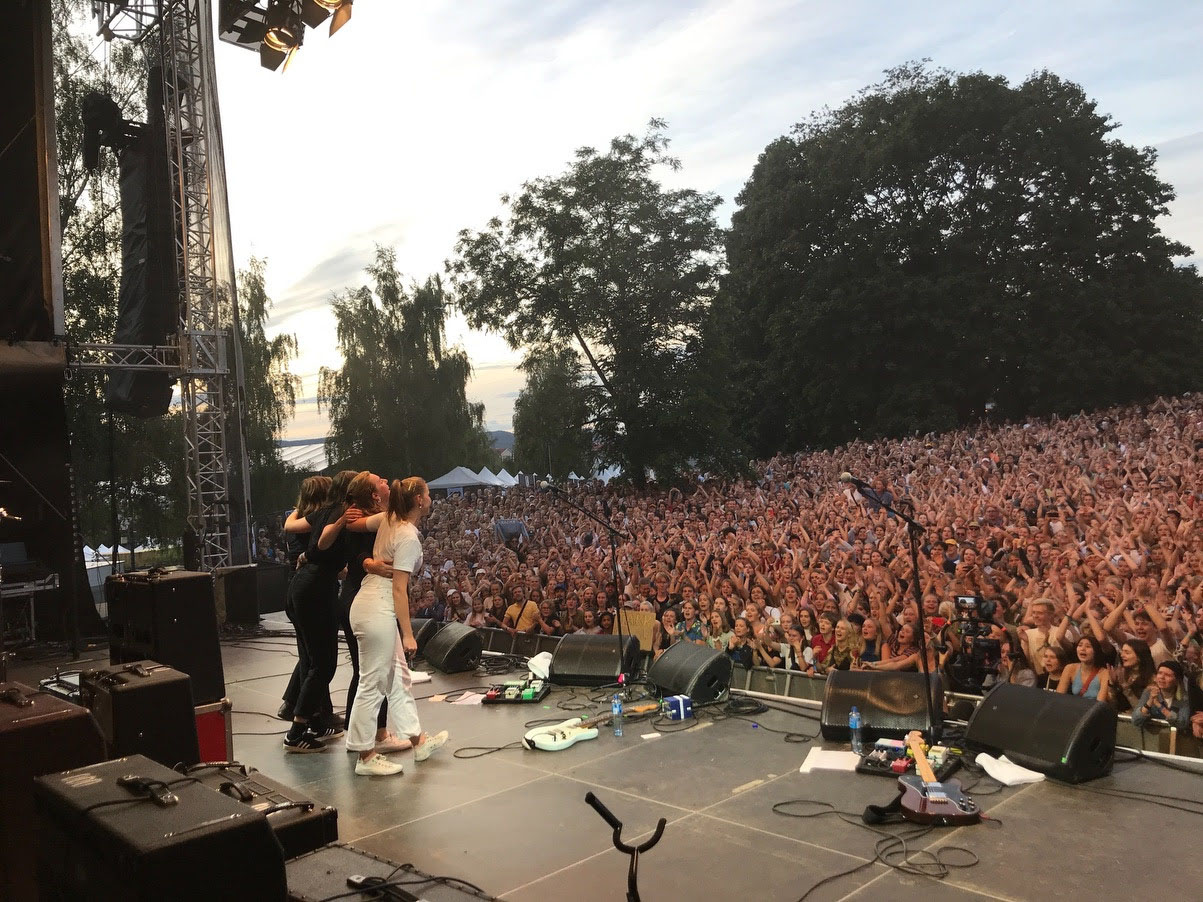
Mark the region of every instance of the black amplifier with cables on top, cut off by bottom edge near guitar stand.
<instances>
[{"instance_id":1,"label":"black amplifier with cables on top, cut off by bottom edge near guitar stand","mask_svg":"<svg viewBox=\"0 0 1203 902\"><path fill-rule=\"evenodd\" d=\"M331 898L369 900L390 898L384 892L365 886L362 894L349 894L351 878L367 880L396 880L398 890L409 896L396 898L420 898L431 902L480 902L494 900L478 892L472 884L454 878L432 877L413 865L398 865L354 845L334 843L324 849L302 855L288 862L290 902L326 902Z\"/></svg>"}]
</instances>

